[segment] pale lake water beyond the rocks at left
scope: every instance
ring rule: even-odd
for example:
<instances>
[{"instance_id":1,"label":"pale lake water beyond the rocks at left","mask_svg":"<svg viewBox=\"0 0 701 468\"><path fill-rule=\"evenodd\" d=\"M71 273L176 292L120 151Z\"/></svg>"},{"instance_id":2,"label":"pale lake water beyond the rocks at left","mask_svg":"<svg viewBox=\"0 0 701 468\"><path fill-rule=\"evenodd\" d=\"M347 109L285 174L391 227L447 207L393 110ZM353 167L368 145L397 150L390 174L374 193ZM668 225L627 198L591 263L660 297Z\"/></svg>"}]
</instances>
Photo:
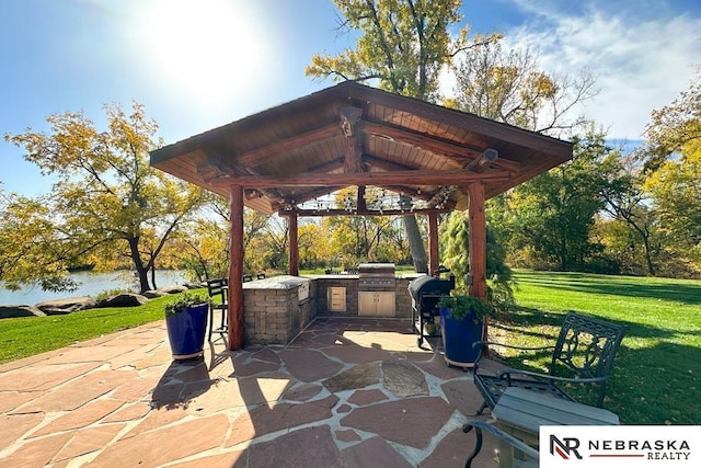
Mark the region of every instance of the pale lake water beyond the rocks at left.
<instances>
[{"instance_id":1,"label":"pale lake water beyond the rocks at left","mask_svg":"<svg viewBox=\"0 0 701 468\"><path fill-rule=\"evenodd\" d=\"M138 281L133 272L92 273L78 272L71 274L72 278L80 283L80 287L71 293L51 293L39 287L21 290L8 290L0 288L0 305L34 305L43 300L59 299L61 297L91 296L95 297L103 290L129 289L139 292ZM149 276L150 278L150 276ZM156 284L158 287L184 284L184 272L172 270L157 270Z\"/></svg>"}]
</instances>

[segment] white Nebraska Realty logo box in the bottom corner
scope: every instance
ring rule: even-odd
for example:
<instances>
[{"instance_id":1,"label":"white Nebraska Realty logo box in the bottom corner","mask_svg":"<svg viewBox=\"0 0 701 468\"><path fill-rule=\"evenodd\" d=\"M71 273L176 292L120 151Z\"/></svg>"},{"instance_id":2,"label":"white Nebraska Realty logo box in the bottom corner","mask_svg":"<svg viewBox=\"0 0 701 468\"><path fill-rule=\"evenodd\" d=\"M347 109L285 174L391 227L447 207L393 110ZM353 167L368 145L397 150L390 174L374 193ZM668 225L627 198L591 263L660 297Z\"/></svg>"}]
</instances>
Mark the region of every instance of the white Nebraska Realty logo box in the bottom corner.
<instances>
[{"instance_id":1,"label":"white Nebraska Realty logo box in the bottom corner","mask_svg":"<svg viewBox=\"0 0 701 468\"><path fill-rule=\"evenodd\" d=\"M698 467L701 426L541 426L540 467Z\"/></svg>"}]
</instances>

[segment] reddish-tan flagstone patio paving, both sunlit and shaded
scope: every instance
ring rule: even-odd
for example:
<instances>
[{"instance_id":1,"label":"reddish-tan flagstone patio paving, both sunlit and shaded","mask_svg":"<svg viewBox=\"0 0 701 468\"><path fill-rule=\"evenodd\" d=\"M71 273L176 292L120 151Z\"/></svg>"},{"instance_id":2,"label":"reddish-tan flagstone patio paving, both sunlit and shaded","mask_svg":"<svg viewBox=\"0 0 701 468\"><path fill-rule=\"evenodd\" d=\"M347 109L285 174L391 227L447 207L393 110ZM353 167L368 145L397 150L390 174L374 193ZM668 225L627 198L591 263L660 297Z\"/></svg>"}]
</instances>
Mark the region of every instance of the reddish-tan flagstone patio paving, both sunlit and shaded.
<instances>
[{"instance_id":1,"label":"reddish-tan flagstone patio paving, both sunlit and shaded","mask_svg":"<svg viewBox=\"0 0 701 468\"><path fill-rule=\"evenodd\" d=\"M461 467L481 399L404 320L171 358L164 322L0 366L0 466ZM473 466L496 466L495 441Z\"/></svg>"}]
</instances>

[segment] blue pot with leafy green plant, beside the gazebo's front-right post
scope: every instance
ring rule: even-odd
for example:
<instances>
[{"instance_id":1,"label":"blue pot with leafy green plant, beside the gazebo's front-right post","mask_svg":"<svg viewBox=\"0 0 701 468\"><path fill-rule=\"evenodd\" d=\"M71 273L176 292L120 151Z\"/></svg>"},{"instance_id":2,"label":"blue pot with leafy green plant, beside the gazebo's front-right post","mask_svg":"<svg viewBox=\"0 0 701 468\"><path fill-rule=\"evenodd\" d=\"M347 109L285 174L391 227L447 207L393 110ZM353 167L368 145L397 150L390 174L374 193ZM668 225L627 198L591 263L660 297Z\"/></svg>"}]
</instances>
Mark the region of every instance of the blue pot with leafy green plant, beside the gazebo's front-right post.
<instances>
[{"instance_id":1,"label":"blue pot with leafy green plant, beside the gazebo's front-right post","mask_svg":"<svg viewBox=\"0 0 701 468\"><path fill-rule=\"evenodd\" d=\"M472 344L482 340L484 318L494 309L480 298L464 295L444 297L438 307L446 363L473 367L481 350L473 349Z\"/></svg>"}]
</instances>

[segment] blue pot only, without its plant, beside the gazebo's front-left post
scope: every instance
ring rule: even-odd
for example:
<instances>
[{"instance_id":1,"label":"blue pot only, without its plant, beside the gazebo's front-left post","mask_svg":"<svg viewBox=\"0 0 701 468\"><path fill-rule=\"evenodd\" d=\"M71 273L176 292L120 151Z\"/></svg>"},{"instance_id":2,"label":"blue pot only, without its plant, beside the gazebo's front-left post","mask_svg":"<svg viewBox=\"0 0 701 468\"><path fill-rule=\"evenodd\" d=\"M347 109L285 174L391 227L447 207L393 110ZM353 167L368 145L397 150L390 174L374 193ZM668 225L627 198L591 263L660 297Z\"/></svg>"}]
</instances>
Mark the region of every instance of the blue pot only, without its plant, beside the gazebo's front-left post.
<instances>
[{"instance_id":1,"label":"blue pot only, without its plant, beside the gazebo's front-left post","mask_svg":"<svg viewBox=\"0 0 701 468\"><path fill-rule=\"evenodd\" d=\"M198 304L165 318L168 340L174 359L189 359L203 355L208 308L207 303Z\"/></svg>"}]
</instances>

